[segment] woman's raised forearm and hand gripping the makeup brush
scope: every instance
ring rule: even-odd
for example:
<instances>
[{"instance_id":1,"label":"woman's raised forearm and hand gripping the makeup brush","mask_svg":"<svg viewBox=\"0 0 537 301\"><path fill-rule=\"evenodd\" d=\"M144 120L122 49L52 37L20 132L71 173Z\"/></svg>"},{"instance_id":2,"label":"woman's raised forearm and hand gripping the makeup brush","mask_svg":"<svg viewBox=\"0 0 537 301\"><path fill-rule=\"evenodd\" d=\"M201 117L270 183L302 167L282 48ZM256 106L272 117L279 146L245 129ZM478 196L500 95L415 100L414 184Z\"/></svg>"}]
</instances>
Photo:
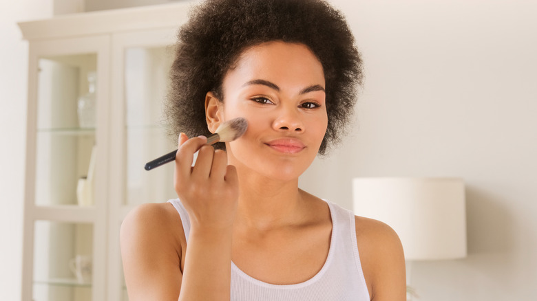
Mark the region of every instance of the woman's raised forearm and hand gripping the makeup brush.
<instances>
[{"instance_id":1,"label":"woman's raised forearm and hand gripping the makeup brush","mask_svg":"<svg viewBox=\"0 0 537 301\"><path fill-rule=\"evenodd\" d=\"M186 139L180 136L174 175L191 223L179 300L229 300L237 172L227 165L224 151L204 145L206 138ZM198 159L191 168L196 150Z\"/></svg>"}]
</instances>

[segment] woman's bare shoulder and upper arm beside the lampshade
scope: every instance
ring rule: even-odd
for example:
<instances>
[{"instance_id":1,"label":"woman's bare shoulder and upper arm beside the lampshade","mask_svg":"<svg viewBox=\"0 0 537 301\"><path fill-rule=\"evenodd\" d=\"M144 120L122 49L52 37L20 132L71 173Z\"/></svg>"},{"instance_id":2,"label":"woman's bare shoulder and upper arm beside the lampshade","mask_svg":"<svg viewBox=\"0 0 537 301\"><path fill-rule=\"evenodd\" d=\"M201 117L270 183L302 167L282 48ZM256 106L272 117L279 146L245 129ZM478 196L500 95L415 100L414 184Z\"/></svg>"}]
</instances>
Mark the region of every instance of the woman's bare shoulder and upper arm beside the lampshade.
<instances>
[{"instance_id":1,"label":"woman's bare shoulder and upper arm beside the lampshade","mask_svg":"<svg viewBox=\"0 0 537 301\"><path fill-rule=\"evenodd\" d=\"M355 216L361 266L371 300L406 300L405 257L401 240L386 223Z\"/></svg>"}]
</instances>

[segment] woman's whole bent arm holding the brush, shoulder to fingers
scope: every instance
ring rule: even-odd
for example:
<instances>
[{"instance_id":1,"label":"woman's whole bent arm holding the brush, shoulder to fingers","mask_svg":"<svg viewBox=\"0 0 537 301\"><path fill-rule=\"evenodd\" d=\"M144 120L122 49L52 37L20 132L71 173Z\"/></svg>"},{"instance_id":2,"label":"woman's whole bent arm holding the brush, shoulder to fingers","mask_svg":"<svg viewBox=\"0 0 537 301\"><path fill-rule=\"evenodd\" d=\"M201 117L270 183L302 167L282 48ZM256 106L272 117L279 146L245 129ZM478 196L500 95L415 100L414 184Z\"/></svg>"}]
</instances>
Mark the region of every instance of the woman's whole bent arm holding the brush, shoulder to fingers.
<instances>
[{"instance_id":1,"label":"woman's whole bent arm holding the brush, shoulder to fingers","mask_svg":"<svg viewBox=\"0 0 537 301\"><path fill-rule=\"evenodd\" d=\"M169 234L178 228L182 233L178 218L174 223L153 212L154 204L140 206L123 222L121 247L130 300L230 298L238 179L235 168L227 166L226 153L204 145L206 141L181 135L176 155L175 188L191 221L187 247L181 247L186 240L178 240L179 234Z\"/></svg>"}]
</instances>

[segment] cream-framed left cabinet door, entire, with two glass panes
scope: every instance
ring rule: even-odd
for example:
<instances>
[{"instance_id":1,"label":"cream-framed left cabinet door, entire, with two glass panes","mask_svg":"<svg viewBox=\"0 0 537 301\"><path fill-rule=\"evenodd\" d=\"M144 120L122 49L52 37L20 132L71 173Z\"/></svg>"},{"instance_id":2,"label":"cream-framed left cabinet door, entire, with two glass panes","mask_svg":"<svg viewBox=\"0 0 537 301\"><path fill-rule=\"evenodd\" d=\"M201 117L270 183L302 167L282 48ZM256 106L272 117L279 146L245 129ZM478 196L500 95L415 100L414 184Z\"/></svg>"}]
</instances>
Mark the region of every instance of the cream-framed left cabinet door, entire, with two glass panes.
<instances>
[{"instance_id":1,"label":"cream-framed left cabinet door, entire, with two glass panes","mask_svg":"<svg viewBox=\"0 0 537 301\"><path fill-rule=\"evenodd\" d=\"M23 300L105 296L108 45L30 43Z\"/></svg>"}]
</instances>

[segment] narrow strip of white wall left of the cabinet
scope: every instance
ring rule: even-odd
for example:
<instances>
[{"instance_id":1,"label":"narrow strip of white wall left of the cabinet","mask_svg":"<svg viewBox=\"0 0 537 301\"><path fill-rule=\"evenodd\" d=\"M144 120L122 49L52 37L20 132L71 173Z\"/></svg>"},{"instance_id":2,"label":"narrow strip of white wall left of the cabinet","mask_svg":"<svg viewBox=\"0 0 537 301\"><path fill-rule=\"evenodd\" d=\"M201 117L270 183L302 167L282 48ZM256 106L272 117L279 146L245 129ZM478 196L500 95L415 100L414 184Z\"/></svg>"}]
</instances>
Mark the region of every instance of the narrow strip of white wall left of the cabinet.
<instances>
[{"instance_id":1,"label":"narrow strip of white wall left of the cabinet","mask_svg":"<svg viewBox=\"0 0 537 301\"><path fill-rule=\"evenodd\" d=\"M52 1L0 1L0 300L21 299L28 44L17 21L52 16Z\"/></svg>"}]
</instances>

